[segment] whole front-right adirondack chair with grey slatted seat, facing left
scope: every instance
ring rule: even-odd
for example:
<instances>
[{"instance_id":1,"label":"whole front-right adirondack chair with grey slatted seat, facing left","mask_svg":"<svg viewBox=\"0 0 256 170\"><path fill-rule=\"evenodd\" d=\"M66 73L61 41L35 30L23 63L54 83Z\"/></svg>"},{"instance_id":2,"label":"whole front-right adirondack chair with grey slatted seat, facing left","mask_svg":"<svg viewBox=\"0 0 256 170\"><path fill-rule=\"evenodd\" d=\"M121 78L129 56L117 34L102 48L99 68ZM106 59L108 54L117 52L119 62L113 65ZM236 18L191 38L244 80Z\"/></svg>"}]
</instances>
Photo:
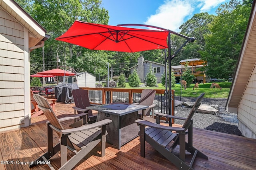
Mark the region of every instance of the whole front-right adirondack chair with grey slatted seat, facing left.
<instances>
[{"instance_id":1,"label":"whole front-right adirondack chair with grey slatted seat, facing left","mask_svg":"<svg viewBox=\"0 0 256 170\"><path fill-rule=\"evenodd\" d=\"M140 119L136 120L135 122L140 125L140 156L145 157L145 141L147 141L152 147L154 147L154 149L160 152L165 158L167 158L180 170L193 170L192 165L194 163L196 155L208 160L208 157L205 154L193 147L192 141L192 117L195 111L200 106L200 102L203 96L204 93L197 98L187 118L166 115L163 113L155 113L156 123L143 121ZM168 117L170 119L181 119L185 122L182 127L170 127L160 125L160 117L162 116ZM186 142L185 139L186 130L188 130L188 142ZM176 133L173 133L172 131L176 131ZM177 145L179 145L178 156L177 153L173 153L173 150L177 147ZM193 155L189 164L187 164L185 160L186 150Z\"/></svg>"}]
</instances>

